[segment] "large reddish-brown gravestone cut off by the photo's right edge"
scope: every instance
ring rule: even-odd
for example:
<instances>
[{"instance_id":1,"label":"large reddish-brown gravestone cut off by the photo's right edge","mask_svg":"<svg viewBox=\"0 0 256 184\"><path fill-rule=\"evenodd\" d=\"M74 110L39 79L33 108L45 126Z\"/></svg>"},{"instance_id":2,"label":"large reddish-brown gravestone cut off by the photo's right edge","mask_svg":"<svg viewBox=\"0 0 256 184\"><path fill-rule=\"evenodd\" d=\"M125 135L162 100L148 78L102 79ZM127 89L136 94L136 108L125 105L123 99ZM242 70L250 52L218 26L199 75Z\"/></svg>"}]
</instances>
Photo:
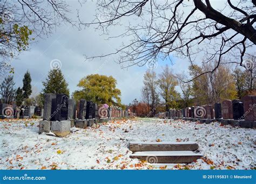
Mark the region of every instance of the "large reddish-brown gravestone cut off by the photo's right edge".
<instances>
[{"instance_id":1,"label":"large reddish-brown gravestone cut off by the photo's right edge","mask_svg":"<svg viewBox=\"0 0 256 184\"><path fill-rule=\"evenodd\" d=\"M245 121L256 121L256 96L246 95L242 98Z\"/></svg>"}]
</instances>

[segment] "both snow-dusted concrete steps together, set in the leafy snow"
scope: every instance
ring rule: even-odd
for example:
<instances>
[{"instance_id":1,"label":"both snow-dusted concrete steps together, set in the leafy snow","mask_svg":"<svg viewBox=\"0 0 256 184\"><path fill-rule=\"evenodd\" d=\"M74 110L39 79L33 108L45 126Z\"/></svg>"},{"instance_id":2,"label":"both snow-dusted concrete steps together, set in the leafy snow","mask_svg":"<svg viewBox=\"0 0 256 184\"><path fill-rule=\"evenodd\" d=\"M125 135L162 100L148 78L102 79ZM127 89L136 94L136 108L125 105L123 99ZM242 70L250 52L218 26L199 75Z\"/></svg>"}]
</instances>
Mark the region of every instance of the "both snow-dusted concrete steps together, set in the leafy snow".
<instances>
[{"instance_id":1,"label":"both snow-dusted concrete steps together, set in the leafy snow","mask_svg":"<svg viewBox=\"0 0 256 184\"><path fill-rule=\"evenodd\" d=\"M203 155L195 153L198 144L194 142L131 142L130 158L146 160L152 164L189 164Z\"/></svg>"}]
</instances>

